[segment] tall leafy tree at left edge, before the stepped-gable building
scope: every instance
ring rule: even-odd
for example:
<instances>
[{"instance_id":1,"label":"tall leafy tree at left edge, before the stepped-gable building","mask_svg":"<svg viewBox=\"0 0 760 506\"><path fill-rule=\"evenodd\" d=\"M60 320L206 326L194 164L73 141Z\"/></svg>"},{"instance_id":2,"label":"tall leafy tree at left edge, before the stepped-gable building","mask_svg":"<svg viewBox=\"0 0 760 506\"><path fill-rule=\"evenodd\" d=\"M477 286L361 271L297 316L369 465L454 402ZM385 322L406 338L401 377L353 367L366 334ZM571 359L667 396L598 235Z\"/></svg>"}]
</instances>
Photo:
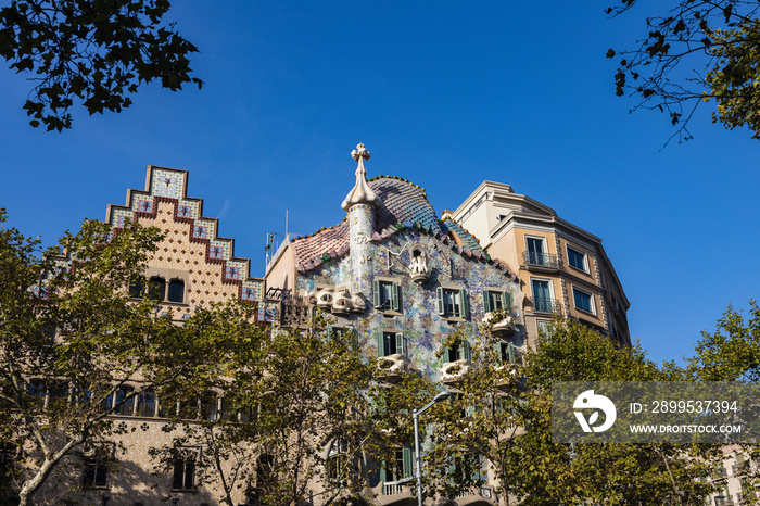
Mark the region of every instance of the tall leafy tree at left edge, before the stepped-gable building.
<instances>
[{"instance_id":1,"label":"tall leafy tree at left edge, before the stepped-gable building","mask_svg":"<svg viewBox=\"0 0 760 506\"><path fill-rule=\"evenodd\" d=\"M119 433L109 415L193 367L192 336L127 290L160 237L86 220L41 255L0 227L0 445L13 450L22 506L67 461L105 451ZM136 377L142 391L123 388Z\"/></svg>"}]
</instances>

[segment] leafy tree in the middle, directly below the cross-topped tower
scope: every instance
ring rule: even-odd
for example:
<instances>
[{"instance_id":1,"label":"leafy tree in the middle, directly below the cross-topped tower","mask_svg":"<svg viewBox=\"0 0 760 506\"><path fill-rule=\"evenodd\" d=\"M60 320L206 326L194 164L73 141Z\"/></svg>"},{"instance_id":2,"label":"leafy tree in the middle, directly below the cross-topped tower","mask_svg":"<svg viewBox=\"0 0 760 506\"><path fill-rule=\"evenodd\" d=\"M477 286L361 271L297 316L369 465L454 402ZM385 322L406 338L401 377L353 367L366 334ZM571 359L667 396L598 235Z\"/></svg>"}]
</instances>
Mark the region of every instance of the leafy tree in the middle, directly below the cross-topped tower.
<instances>
[{"instance_id":1,"label":"leafy tree in the middle, directly below the cross-topped tower","mask_svg":"<svg viewBox=\"0 0 760 506\"><path fill-rule=\"evenodd\" d=\"M391 423L383 415L390 412L372 408L382 389L356 334L332 331L321 315L307 331L241 331L244 321L216 312L194 328L214 353L192 377L164 389L164 396L191 406L203 399L216 405L220 397L221 410L177 413L167 427L175 433L172 443L153 452L162 469L182 448L202 445L204 458L195 468L203 481L224 490L224 504L237 504L233 493L242 489L257 504L293 505L307 499L315 483L320 504L358 501L368 464L382 458L382 429Z\"/></svg>"}]
</instances>

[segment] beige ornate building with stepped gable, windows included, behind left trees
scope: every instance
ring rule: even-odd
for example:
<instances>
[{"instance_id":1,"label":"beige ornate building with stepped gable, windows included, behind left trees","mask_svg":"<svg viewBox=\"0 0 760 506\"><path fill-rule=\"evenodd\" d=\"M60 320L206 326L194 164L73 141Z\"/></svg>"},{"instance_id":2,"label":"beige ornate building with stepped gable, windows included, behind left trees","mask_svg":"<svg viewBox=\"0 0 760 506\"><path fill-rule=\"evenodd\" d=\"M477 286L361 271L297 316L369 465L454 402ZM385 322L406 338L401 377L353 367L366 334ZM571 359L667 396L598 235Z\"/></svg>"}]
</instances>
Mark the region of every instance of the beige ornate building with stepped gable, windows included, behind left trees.
<instances>
[{"instance_id":1,"label":"beige ornate building with stepped gable, windows included, behind left trees","mask_svg":"<svg viewBox=\"0 0 760 506\"><path fill-rule=\"evenodd\" d=\"M187 186L186 170L149 166L145 189L128 190L125 205L109 205L105 218L116 229L129 219L165 233L143 282L161 299L156 315L170 314L178 325L197 307L230 299L257 304L264 293L264 280L250 276L250 261L235 255L235 241L219 236L218 220L203 216L203 201L188 197ZM135 295L140 296L142 288ZM141 387L139 377L130 378L110 402L141 391ZM206 401L211 416L216 416L221 399ZM121 434L113 444L106 443L112 447L109 461L67 457L37 493L37 504L218 504L215 491L198 486L191 461L161 472L149 454L151 448L170 444L176 435L164 430L167 410L176 407L150 391L122 404L111 417ZM197 452L202 458L203 448ZM242 492L239 495L244 503Z\"/></svg>"}]
</instances>

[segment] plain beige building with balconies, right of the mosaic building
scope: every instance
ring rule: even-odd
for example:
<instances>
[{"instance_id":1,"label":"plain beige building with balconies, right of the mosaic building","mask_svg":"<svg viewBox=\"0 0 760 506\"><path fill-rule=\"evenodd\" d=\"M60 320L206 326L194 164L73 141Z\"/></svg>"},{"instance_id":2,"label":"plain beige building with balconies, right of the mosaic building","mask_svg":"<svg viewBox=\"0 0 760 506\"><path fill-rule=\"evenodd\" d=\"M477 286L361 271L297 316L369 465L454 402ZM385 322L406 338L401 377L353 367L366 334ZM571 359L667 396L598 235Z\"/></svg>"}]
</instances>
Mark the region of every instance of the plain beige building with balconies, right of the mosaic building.
<instances>
[{"instance_id":1,"label":"plain beige building with balconies, right of the mosaic building","mask_svg":"<svg viewBox=\"0 0 760 506\"><path fill-rule=\"evenodd\" d=\"M460 223L487 254L518 274L529 339L558 315L631 344L631 304L601 239L502 182L483 181L444 216Z\"/></svg>"}]
</instances>

